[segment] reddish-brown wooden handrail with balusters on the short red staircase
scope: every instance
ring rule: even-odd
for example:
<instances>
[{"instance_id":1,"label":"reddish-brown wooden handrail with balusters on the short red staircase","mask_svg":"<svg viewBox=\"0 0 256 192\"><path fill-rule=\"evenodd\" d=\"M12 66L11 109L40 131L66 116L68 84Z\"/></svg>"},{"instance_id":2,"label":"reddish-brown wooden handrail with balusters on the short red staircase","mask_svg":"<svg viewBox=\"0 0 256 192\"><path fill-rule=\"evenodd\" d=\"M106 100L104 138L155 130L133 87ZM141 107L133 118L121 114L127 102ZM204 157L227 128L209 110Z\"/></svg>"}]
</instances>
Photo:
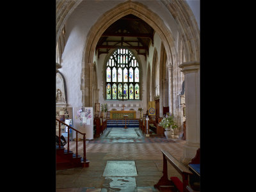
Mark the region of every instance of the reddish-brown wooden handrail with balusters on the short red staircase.
<instances>
[{"instance_id":1,"label":"reddish-brown wooden handrail with balusters on the short red staircase","mask_svg":"<svg viewBox=\"0 0 256 192\"><path fill-rule=\"evenodd\" d=\"M69 153L69 129L73 129L74 131L76 131L76 157L78 157L78 143L77 143L77 133L79 134L83 134L83 160L84 160L84 165L86 163L86 140L85 140L85 135L86 133L83 133L83 132L80 132L80 131L77 131L76 129L74 129L73 127L71 127L70 125L67 125L65 124L64 122L61 122L61 120L58 120L56 118L56 120L59 122L59 148L61 148L61 140L60 140L60 137L61 137L61 124L65 125L68 127L68 141L67 141L67 144L68 144L68 147L67 147L67 152Z\"/></svg>"}]
</instances>

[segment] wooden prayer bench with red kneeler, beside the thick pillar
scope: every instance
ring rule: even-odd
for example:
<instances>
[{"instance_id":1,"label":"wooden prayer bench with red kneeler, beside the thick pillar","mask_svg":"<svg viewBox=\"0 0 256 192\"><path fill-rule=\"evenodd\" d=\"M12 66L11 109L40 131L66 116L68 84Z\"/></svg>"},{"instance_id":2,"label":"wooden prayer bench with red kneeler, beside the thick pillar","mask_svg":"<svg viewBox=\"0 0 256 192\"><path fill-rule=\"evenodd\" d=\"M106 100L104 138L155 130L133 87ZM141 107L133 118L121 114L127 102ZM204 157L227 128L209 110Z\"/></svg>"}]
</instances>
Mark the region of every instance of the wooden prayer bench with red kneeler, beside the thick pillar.
<instances>
[{"instance_id":1,"label":"wooden prayer bench with red kneeler, beside the thick pillar","mask_svg":"<svg viewBox=\"0 0 256 192\"><path fill-rule=\"evenodd\" d=\"M161 186L171 186L170 191L187 191L188 189L186 189L186 187L189 185L189 175L193 173L166 150L161 149L161 152L163 153L163 176L159 179L157 184L154 185L154 188L160 190ZM167 161L180 173L182 181L180 181L178 177L170 177L171 180L168 179Z\"/></svg>"}]
</instances>

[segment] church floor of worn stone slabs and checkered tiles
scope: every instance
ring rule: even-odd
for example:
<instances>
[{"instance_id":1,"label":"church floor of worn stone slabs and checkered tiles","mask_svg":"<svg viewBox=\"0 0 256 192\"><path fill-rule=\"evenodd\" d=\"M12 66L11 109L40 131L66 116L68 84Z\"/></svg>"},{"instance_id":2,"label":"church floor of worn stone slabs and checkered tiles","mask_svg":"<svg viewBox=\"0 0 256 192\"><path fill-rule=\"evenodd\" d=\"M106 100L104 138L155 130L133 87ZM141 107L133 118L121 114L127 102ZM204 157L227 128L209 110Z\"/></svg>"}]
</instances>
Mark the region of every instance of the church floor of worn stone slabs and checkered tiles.
<instances>
[{"instance_id":1,"label":"church floor of worn stone slabs and checkered tiles","mask_svg":"<svg viewBox=\"0 0 256 192\"><path fill-rule=\"evenodd\" d=\"M108 127L100 138L86 141L88 168L56 171L56 192L157 191L154 184L163 175L160 149L179 160L185 142L145 138L138 127ZM76 141L70 141L70 150L76 151ZM83 141L78 141L78 154L83 155ZM169 175L182 179L171 164Z\"/></svg>"}]
</instances>

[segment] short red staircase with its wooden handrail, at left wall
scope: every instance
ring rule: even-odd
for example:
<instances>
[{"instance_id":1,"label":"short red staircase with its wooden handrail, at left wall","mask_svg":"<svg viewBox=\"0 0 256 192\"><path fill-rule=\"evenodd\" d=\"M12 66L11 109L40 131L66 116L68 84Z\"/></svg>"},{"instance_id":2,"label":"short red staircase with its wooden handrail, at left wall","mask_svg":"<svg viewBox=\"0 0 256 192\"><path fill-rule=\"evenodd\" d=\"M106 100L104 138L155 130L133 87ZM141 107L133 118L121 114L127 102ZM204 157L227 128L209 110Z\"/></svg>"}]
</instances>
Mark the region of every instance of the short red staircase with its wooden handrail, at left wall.
<instances>
[{"instance_id":1,"label":"short red staircase with its wooden handrail, at left wall","mask_svg":"<svg viewBox=\"0 0 256 192\"><path fill-rule=\"evenodd\" d=\"M61 141L57 142L58 145L56 145L56 170L64 170L68 168L77 168L77 167L88 167L90 161L86 159L85 133L77 131L73 127L70 127L69 125L65 124L64 122L61 122L58 119L56 120L59 122L59 130L60 130L60 124L63 124L68 127L68 132L69 132L69 129L73 129L74 131L76 131L76 138L78 138L77 133L83 134L83 157L78 155L77 140L76 140L76 153L69 150L69 139L67 142L67 149L63 146L59 147L59 145L61 144ZM60 138L60 132L59 132L59 138ZM69 135L68 135L68 138L69 138Z\"/></svg>"}]
</instances>

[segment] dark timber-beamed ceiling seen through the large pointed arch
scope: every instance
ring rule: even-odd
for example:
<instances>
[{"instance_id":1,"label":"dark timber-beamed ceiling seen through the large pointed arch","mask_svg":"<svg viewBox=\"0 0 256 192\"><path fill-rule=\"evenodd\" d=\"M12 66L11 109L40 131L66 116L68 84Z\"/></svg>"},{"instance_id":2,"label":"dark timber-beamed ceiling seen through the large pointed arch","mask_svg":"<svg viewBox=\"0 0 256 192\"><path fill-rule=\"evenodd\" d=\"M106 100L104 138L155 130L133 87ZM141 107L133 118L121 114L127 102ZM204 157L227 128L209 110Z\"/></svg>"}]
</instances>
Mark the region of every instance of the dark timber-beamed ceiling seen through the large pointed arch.
<instances>
[{"instance_id":1,"label":"dark timber-beamed ceiling seen through the large pointed arch","mask_svg":"<svg viewBox=\"0 0 256 192\"><path fill-rule=\"evenodd\" d=\"M126 15L116 20L100 36L96 46L98 58L100 54L108 54L110 49L134 49L139 55L148 55L148 47L154 44L154 29L135 15Z\"/></svg>"}]
</instances>

